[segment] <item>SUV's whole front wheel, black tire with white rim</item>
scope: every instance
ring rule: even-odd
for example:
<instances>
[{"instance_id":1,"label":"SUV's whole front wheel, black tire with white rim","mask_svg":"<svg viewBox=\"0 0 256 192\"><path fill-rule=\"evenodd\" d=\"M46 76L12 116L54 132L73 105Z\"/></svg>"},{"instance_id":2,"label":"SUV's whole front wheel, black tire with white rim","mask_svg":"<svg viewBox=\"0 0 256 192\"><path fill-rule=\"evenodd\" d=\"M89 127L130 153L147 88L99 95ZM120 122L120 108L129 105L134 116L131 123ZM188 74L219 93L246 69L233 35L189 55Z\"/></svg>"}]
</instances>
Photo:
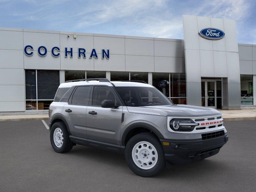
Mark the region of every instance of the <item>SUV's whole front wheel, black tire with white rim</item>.
<instances>
[{"instance_id":1,"label":"SUV's whole front wheel, black tire with white rim","mask_svg":"<svg viewBox=\"0 0 256 192\"><path fill-rule=\"evenodd\" d=\"M149 132L137 134L128 141L125 159L130 169L141 177L152 177L165 167L163 147Z\"/></svg>"}]
</instances>

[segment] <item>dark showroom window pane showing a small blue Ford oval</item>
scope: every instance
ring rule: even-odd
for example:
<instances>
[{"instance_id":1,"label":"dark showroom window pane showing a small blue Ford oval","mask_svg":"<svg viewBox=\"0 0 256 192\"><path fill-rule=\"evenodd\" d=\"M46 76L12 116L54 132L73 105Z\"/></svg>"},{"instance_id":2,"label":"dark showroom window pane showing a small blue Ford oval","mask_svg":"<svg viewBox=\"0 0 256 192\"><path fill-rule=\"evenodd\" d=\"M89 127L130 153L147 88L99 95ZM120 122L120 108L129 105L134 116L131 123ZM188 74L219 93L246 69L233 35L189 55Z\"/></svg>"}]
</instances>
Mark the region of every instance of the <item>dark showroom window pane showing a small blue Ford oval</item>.
<instances>
[{"instance_id":1,"label":"dark showroom window pane showing a small blue Ford oval","mask_svg":"<svg viewBox=\"0 0 256 192\"><path fill-rule=\"evenodd\" d=\"M164 93L166 97L169 95L169 73L152 73L153 86Z\"/></svg>"}]
</instances>

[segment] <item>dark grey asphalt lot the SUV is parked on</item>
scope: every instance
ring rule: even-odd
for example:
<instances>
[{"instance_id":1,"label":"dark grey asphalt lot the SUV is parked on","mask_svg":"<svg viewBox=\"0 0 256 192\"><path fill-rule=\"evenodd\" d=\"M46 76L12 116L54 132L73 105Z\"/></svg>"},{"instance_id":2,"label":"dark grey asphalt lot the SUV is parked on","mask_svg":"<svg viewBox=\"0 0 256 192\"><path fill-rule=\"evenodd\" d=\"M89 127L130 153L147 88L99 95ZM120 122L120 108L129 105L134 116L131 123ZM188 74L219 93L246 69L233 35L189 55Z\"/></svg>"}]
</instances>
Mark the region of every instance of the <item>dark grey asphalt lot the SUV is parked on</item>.
<instances>
[{"instance_id":1,"label":"dark grey asphalt lot the SUV is parked on","mask_svg":"<svg viewBox=\"0 0 256 192\"><path fill-rule=\"evenodd\" d=\"M256 121L225 126L217 155L142 178L123 154L79 145L55 153L42 121L0 122L0 191L255 191Z\"/></svg>"}]
</instances>

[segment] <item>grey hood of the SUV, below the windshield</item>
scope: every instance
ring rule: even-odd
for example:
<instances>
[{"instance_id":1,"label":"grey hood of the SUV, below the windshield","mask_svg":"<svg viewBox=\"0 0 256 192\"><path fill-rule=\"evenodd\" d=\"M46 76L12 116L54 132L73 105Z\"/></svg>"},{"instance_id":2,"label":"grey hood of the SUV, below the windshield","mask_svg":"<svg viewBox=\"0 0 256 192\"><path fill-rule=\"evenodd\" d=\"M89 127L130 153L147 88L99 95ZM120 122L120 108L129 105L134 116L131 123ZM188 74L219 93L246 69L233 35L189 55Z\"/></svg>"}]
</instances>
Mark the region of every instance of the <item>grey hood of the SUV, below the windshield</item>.
<instances>
[{"instance_id":1,"label":"grey hood of the SUV, below the windshield","mask_svg":"<svg viewBox=\"0 0 256 192\"><path fill-rule=\"evenodd\" d=\"M193 105L154 105L143 107L127 107L127 109L130 113L173 117L203 117L222 115L222 113L216 109Z\"/></svg>"}]
</instances>

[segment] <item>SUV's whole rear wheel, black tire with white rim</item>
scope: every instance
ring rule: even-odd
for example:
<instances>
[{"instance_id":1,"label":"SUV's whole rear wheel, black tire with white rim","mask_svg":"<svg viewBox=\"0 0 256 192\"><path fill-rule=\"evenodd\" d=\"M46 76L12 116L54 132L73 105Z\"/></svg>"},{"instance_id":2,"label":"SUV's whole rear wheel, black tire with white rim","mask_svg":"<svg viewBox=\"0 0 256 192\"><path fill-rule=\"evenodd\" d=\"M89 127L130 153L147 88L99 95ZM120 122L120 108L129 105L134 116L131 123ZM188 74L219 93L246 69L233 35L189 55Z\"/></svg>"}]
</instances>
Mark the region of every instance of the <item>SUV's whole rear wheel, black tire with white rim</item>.
<instances>
[{"instance_id":1,"label":"SUV's whole rear wheel, black tire with white rim","mask_svg":"<svg viewBox=\"0 0 256 192\"><path fill-rule=\"evenodd\" d=\"M72 149L66 125L63 122L56 122L52 125L50 132L52 148L57 153L65 153Z\"/></svg>"}]
</instances>

